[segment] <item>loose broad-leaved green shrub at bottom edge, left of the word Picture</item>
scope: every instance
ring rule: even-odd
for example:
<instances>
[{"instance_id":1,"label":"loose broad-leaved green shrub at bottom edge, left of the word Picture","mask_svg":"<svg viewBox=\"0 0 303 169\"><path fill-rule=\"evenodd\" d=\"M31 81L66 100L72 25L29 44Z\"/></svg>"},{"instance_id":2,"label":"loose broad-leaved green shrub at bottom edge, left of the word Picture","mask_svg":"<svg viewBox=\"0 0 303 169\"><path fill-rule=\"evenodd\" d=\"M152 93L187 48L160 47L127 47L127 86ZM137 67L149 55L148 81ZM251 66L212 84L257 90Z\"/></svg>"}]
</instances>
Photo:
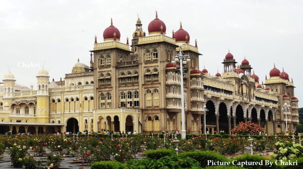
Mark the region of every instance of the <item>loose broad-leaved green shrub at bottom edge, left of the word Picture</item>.
<instances>
[{"instance_id":1,"label":"loose broad-leaved green shrub at bottom edge, left of the word Picture","mask_svg":"<svg viewBox=\"0 0 303 169\"><path fill-rule=\"evenodd\" d=\"M175 169L181 169L181 168L187 168L187 169L200 169L200 164L195 159L189 158L189 157L177 157L177 156L171 156L171 157L162 157L159 160L154 159L142 159L142 160L131 160L124 164L120 164L115 169L149 169L149 168L175 168Z\"/></svg>"}]
</instances>

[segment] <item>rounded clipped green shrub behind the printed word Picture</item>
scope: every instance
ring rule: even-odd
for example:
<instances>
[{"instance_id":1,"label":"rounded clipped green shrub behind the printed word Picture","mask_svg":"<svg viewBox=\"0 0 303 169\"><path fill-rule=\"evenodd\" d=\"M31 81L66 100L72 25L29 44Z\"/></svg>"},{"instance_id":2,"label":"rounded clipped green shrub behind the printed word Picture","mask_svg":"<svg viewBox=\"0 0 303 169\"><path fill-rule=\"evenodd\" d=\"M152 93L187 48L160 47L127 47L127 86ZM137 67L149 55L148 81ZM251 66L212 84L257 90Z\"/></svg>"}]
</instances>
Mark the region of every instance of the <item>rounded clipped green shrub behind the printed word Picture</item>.
<instances>
[{"instance_id":1,"label":"rounded clipped green shrub behind the printed word Picture","mask_svg":"<svg viewBox=\"0 0 303 169\"><path fill-rule=\"evenodd\" d=\"M179 157L190 157L193 158L195 160L197 160L201 167L206 167L207 166L207 160L213 160L213 161L229 161L228 158L212 152L212 151L191 151L191 152L184 152L179 154Z\"/></svg>"}]
</instances>

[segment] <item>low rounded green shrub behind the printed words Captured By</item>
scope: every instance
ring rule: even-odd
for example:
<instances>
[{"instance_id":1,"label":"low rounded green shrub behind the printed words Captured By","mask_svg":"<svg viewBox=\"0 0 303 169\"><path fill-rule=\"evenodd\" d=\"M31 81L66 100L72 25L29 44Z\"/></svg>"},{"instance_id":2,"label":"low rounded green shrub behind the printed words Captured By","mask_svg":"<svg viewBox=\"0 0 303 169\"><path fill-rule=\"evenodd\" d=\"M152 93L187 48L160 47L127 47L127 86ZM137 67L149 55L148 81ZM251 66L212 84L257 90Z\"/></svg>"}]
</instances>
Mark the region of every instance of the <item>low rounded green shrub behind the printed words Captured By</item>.
<instances>
[{"instance_id":1,"label":"low rounded green shrub behind the printed words Captured By","mask_svg":"<svg viewBox=\"0 0 303 169\"><path fill-rule=\"evenodd\" d=\"M280 166L275 165L275 160L271 160L268 158L265 158L261 155L250 155L250 154L244 154L242 156L239 157L235 157L232 158L231 161L237 160L237 162L261 162L263 161L263 165L243 165L244 168L247 169L278 169L280 168ZM271 165L265 165L265 160L269 160L270 162L273 162L273 164ZM235 162L236 163L236 162Z\"/></svg>"}]
</instances>

